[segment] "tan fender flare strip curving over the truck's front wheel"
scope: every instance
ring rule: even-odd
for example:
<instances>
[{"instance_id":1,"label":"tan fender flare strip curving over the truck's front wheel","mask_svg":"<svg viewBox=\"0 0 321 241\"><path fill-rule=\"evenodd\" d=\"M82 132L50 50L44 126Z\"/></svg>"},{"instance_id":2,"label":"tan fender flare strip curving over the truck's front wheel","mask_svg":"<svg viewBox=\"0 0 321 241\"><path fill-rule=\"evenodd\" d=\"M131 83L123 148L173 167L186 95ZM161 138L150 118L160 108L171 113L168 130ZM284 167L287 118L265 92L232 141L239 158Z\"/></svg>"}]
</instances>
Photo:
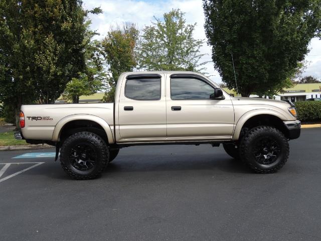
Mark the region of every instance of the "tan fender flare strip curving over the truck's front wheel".
<instances>
[{"instance_id":1,"label":"tan fender flare strip curving over the truck's front wheel","mask_svg":"<svg viewBox=\"0 0 321 241\"><path fill-rule=\"evenodd\" d=\"M268 114L268 115L273 115L275 117L278 117L279 119L281 119L282 121L286 121L286 117L285 115L283 115L282 113L276 111L276 110L272 110L272 109L253 109L250 110L246 113L244 113L237 121L235 128L234 128L234 132L233 132L233 136L232 136L232 140L233 141L237 141L240 137L240 133L242 130L242 127L244 126L244 124L248 121L248 119L250 119L251 117L255 116L255 115L260 115L260 114Z\"/></svg>"}]
</instances>

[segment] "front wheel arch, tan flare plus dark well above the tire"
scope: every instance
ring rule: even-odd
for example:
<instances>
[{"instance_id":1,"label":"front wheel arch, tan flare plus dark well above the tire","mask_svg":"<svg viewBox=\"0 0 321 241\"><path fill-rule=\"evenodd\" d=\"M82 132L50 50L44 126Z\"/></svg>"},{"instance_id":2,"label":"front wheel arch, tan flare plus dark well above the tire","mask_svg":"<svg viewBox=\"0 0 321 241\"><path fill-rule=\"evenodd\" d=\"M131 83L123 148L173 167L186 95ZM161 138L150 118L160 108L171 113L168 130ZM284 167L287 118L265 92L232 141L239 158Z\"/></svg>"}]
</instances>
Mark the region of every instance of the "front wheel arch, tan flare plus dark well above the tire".
<instances>
[{"instance_id":1,"label":"front wheel arch, tan flare plus dark well above the tire","mask_svg":"<svg viewBox=\"0 0 321 241\"><path fill-rule=\"evenodd\" d=\"M244 127L251 128L260 125L273 126L288 137L288 130L284 126L283 121L286 121L286 117L280 112L270 109L250 110L238 119L232 140L237 141L239 139Z\"/></svg>"}]
</instances>

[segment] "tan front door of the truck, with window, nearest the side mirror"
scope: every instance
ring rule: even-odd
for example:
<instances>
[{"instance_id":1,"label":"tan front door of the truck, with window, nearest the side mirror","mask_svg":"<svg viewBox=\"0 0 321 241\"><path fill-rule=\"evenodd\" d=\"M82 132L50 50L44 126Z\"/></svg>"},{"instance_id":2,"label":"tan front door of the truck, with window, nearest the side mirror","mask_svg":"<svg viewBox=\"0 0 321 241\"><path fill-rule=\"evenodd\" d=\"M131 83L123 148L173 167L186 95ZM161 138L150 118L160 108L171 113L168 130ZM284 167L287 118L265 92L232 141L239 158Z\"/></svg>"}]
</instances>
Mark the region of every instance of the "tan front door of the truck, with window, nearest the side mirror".
<instances>
[{"instance_id":1,"label":"tan front door of the truck, with window, nearest the side mirror","mask_svg":"<svg viewBox=\"0 0 321 241\"><path fill-rule=\"evenodd\" d=\"M202 76L172 74L167 82L167 137L230 139L234 108L229 95L214 100L213 84Z\"/></svg>"}]
</instances>

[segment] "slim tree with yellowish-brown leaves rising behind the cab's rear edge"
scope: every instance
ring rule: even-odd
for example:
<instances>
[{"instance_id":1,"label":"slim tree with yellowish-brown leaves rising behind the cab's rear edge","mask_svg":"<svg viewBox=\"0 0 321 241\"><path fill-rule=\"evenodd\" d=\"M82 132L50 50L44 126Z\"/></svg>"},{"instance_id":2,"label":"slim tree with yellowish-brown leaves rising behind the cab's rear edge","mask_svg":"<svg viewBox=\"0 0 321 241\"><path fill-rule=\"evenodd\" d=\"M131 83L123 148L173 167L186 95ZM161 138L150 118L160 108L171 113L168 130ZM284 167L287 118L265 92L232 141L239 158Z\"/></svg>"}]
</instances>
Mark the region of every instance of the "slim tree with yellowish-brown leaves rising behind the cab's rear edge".
<instances>
[{"instance_id":1,"label":"slim tree with yellowish-brown leaves rising behind the cab's rear edge","mask_svg":"<svg viewBox=\"0 0 321 241\"><path fill-rule=\"evenodd\" d=\"M138 39L139 31L132 23L125 23L122 26L111 27L106 38L102 41L105 59L108 70L111 73L109 78L109 91L105 93L103 101L113 101L115 88L119 75L122 72L133 71L137 62L134 49Z\"/></svg>"}]
</instances>

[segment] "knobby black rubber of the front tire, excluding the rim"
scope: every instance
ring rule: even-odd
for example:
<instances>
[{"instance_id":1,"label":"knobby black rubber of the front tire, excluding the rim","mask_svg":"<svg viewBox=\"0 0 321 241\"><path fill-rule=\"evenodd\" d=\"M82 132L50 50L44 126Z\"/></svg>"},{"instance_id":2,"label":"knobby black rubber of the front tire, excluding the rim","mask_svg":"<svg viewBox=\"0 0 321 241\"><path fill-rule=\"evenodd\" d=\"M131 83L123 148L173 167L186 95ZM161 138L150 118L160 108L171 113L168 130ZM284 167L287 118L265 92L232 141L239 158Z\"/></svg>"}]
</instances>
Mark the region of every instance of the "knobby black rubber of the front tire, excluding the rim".
<instances>
[{"instance_id":1,"label":"knobby black rubber of the front tire, excluding the rim","mask_svg":"<svg viewBox=\"0 0 321 241\"><path fill-rule=\"evenodd\" d=\"M271 164L261 164L255 159L252 151L263 138L276 142L279 148L276 160ZM240 143L240 157L242 161L257 173L274 173L280 170L289 157L289 144L283 133L274 127L259 126L251 129Z\"/></svg>"}]
</instances>

